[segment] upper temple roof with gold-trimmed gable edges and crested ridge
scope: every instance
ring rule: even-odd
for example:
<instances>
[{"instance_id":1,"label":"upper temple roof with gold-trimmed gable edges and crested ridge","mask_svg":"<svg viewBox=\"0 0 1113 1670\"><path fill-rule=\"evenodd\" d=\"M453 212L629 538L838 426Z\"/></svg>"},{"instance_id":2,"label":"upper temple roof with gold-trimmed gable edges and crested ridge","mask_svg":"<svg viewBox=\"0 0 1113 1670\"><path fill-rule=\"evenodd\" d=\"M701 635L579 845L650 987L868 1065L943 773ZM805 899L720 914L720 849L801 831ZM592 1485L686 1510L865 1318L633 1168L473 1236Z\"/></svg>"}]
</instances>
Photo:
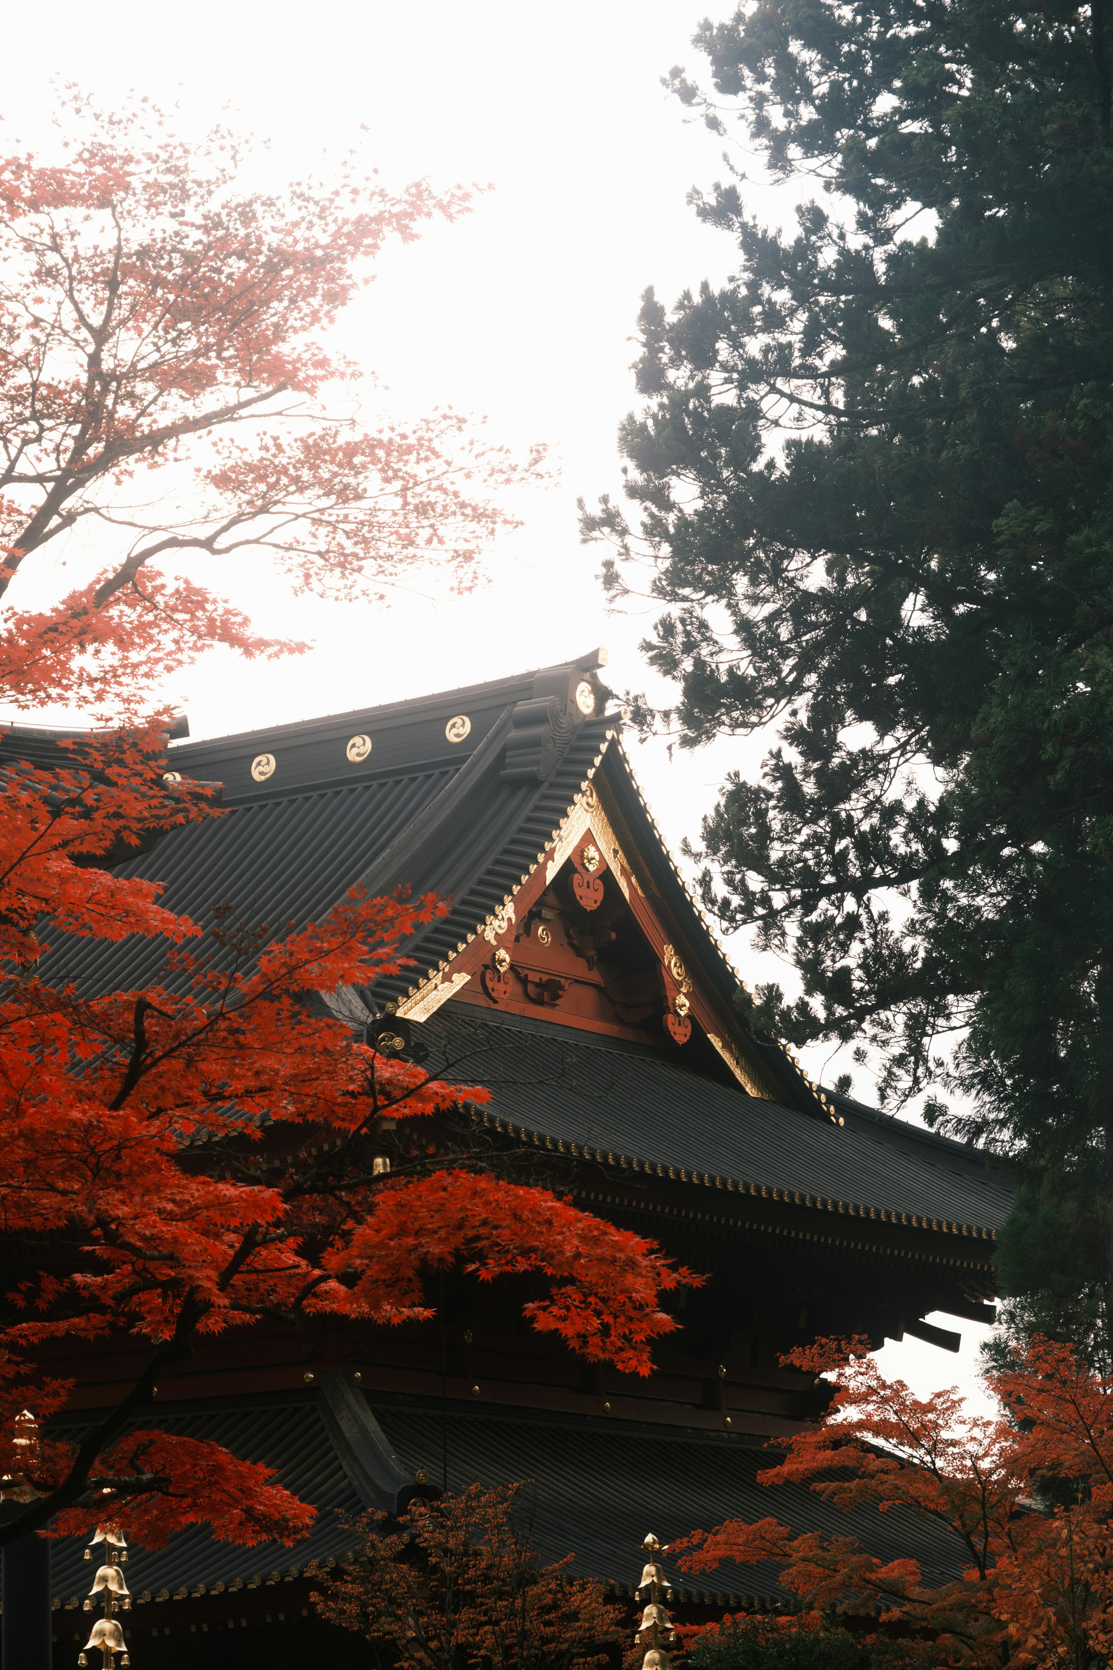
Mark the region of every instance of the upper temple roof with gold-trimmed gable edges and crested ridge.
<instances>
[{"instance_id":1,"label":"upper temple roof with gold-trimmed gable edges and crested ridge","mask_svg":"<svg viewBox=\"0 0 1113 1670\"><path fill-rule=\"evenodd\" d=\"M117 873L162 882L162 902L207 930L224 903L252 927L300 927L357 882L372 893L407 885L451 895L449 915L405 947L415 967L349 994L344 1012L355 1024L384 1012L421 1024L459 1010L464 1024L477 1010L451 1002L454 994L476 989L484 962L512 945L516 917L591 840L652 955L682 962L719 1067L662 1040L629 1054L619 1074L606 1040L546 1015L534 1024L541 1054L546 1037L556 1049L564 1034L559 1047L579 1052L584 1077L602 1059L621 1089L606 1107L581 1106L579 1092L564 1094L569 1084L551 1099L531 1086L529 1107L504 1089L492 1117L556 1144L614 1149L634 1169L681 1167L731 1192L756 1187L816 1211L836 1201L851 1214L991 1237L1010 1192L980 1154L821 1091L784 1045L738 1024L739 974L656 827L621 720L606 713L599 661L596 651L415 701L172 745L174 772L224 783L227 810L172 830ZM140 937L70 939L42 972L83 992L137 987L165 980L165 950Z\"/></svg>"}]
</instances>

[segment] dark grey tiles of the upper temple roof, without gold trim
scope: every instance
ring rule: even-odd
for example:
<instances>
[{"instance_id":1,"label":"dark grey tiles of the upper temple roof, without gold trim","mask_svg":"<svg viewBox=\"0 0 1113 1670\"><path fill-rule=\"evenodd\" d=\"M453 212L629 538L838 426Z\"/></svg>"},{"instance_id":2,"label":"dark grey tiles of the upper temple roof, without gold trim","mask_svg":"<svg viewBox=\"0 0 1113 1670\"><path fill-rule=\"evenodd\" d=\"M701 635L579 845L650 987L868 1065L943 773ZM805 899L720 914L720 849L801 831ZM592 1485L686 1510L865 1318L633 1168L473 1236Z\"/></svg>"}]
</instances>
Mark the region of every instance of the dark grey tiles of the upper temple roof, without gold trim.
<instances>
[{"instance_id":1,"label":"dark grey tiles of the upper temple roof, without gold trim","mask_svg":"<svg viewBox=\"0 0 1113 1670\"><path fill-rule=\"evenodd\" d=\"M664 920L674 924L687 967L729 1010L738 975L652 823L612 720L581 723L546 780L502 780L514 706L529 705L532 688L534 675L526 673L421 701L177 745L175 768L224 780L230 810L170 832L118 873L162 882L162 902L205 927L215 905L230 903L239 920L265 922L275 932L287 922L300 927L319 918L355 882L372 893L409 885L451 895L447 918L404 947L414 969L360 994L380 1010L449 962L511 898L602 760L594 782L611 797L616 835L629 847L627 857ZM471 730L452 745L446 725L456 715L466 715ZM372 738L360 762L345 755L352 735ZM277 760L264 785L250 775L260 752ZM189 949L202 945L190 942ZM75 980L83 992L150 985L160 977L165 950L165 942L137 935L118 945L70 939L43 959L42 972L50 980ZM502 1037L507 1049L516 1039L521 1054L521 1032ZM577 1065L564 1075L569 1050ZM768 1045L761 1054L784 1106L754 1101L723 1082L723 1074L704 1077L651 1050L622 1054L619 1070L619 1054L607 1052L601 1039L542 1024L531 1037L522 1084L499 1091L497 1111L531 1131L713 1177L978 1227L1001 1222L1008 1187L976 1154L854 1102L839 1102L844 1126L838 1127L781 1049ZM471 1075L481 1077L479 1070Z\"/></svg>"}]
</instances>

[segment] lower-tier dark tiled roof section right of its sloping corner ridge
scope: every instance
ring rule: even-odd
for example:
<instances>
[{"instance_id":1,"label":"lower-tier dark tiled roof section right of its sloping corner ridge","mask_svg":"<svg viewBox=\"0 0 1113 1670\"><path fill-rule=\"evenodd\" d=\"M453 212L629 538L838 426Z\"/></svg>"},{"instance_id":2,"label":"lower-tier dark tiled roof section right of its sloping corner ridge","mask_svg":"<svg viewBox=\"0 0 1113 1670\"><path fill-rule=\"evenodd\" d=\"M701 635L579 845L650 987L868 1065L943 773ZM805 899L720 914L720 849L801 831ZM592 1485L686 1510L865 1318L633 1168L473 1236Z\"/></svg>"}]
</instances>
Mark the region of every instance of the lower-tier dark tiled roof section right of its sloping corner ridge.
<instances>
[{"instance_id":1,"label":"lower-tier dark tiled roof section right of its sloping corner ridge","mask_svg":"<svg viewBox=\"0 0 1113 1670\"><path fill-rule=\"evenodd\" d=\"M436 1411L389 1409L375 1414L399 1456L441 1480L441 1416ZM532 1480L536 1536L546 1558L576 1553L574 1570L621 1585L641 1576L641 1543L652 1531L671 1543L687 1531L711 1530L724 1520L774 1516L796 1531L859 1536L886 1560L908 1555L921 1561L929 1581L954 1576L966 1563L943 1526L903 1510L839 1513L806 1486L758 1483L773 1465L766 1450L736 1438L646 1436L621 1428L546 1425L449 1414L449 1486L481 1481L511 1485ZM778 1592L773 1568L721 1566L684 1576L664 1560L666 1576L684 1588L714 1588L739 1595Z\"/></svg>"}]
</instances>

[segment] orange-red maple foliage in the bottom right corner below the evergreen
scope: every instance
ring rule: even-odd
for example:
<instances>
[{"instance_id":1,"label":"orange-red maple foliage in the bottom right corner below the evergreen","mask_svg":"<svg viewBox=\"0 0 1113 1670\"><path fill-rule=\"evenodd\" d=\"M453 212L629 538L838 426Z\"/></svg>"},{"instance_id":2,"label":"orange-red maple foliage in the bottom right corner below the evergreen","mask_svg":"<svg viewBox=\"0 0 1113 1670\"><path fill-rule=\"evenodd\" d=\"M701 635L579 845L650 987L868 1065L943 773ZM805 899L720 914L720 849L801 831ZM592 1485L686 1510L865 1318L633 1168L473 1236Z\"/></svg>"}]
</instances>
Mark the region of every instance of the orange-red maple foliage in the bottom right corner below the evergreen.
<instances>
[{"instance_id":1,"label":"orange-red maple foliage in the bottom right corner below the evergreen","mask_svg":"<svg viewBox=\"0 0 1113 1670\"><path fill-rule=\"evenodd\" d=\"M931 1585L913 1558L879 1560L853 1535L798 1535L773 1518L694 1531L676 1545L686 1570L773 1561L806 1608L878 1615L961 1670L1110 1663L1113 1379L1036 1339L990 1376L1001 1413L985 1420L953 1389L919 1399L888 1381L864 1341L818 1341L784 1361L833 1374L838 1389L761 1481L878 1508L896 1548L913 1515L934 1520L961 1575Z\"/></svg>"}]
</instances>

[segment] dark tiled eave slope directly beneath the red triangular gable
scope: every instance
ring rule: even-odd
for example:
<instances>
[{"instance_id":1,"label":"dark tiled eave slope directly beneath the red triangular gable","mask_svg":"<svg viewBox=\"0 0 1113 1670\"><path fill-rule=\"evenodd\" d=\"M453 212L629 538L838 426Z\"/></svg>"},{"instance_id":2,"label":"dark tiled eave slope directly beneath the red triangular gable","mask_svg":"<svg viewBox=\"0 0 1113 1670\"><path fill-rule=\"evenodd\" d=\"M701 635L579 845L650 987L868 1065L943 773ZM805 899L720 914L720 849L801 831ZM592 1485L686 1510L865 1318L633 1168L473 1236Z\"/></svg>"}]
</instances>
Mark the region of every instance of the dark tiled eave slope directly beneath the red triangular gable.
<instances>
[{"instance_id":1,"label":"dark tiled eave slope directly beneath the red triangular gable","mask_svg":"<svg viewBox=\"0 0 1113 1670\"><path fill-rule=\"evenodd\" d=\"M674 1055L536 1022L494 1025L447 1004L439 1030L467 1072L494 1087L491 1111L531 1134L736 1182L823 1194L888 1211L996 1229L1008 1182L976 1149L868 1109L844 1126L758 1101Z\"/></svg>"}]
</instances>

